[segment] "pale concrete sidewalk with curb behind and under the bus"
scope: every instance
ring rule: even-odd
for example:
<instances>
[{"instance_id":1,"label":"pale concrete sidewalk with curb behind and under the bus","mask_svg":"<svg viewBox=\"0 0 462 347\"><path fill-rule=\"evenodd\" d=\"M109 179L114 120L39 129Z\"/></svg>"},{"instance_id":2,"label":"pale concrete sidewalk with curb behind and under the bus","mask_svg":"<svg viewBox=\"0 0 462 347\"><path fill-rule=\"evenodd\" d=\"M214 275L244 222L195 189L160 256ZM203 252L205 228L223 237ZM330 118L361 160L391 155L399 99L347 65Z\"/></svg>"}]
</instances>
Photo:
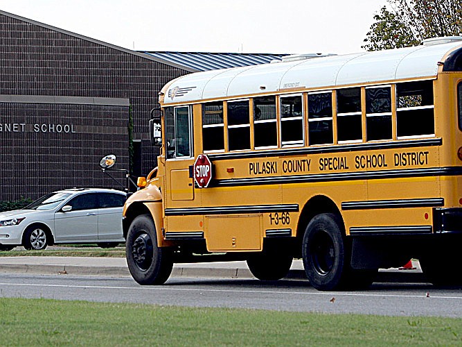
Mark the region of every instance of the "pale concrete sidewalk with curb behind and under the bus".
<instances>
[{"instance_id":1,"label":"pale concrete sidewalk with curb behind and under the bus","mask_svg":"<svg viewBox=\"0 0 462 347\"><path fill-rule=\"evenodd\" d=\"M416 269L380 269L377 282L423 282L418 262L413 266ZM123 257L0 257L0 273L130 276L127 261ZM246 262L175 264L172 277L254 278ZM301 260L294 260L287 278L306 278Z\"/></svg>"}]
</instances>

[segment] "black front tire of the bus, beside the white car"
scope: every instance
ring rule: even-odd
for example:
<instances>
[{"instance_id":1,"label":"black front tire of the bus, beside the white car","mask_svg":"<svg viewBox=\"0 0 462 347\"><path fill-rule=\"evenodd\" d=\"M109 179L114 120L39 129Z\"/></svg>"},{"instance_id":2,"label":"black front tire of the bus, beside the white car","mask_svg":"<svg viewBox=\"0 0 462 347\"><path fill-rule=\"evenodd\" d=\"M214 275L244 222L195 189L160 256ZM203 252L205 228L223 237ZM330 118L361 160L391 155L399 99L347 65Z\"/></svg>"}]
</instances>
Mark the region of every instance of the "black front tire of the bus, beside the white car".
<instances>
[{"instance_id":1,"label":"black front tire of the bus, beside the white car","mask_svg":"<svg viewBox=\"0 0 462 347\"><path fill-rule=\"evenodd\" d=\"M170 277L172 251L157 246L156 228L150 216L143 214L132 221L125 250L128 269L140 285L161 285Z\"/></svg>"}]
</instances>

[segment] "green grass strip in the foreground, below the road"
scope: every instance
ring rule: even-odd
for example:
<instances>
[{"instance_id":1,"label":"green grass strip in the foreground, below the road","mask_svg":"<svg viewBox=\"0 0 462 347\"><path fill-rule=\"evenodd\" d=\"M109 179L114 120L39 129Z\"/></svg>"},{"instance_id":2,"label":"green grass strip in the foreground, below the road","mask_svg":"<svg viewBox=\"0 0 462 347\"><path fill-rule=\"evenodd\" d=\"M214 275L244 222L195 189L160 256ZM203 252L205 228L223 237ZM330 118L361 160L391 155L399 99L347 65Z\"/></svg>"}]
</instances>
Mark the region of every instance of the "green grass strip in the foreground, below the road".
<instances>
[{"instance_id":1,"label":"green grass strip in the foreground, below the road","mask_svg":"<svg viewBox=\"0 0 462 347\"><path fill-rule=\"evenodd\" d=\"M1 346L461 346L462 319L0 298Z\"/></svg>"}]
</instances>

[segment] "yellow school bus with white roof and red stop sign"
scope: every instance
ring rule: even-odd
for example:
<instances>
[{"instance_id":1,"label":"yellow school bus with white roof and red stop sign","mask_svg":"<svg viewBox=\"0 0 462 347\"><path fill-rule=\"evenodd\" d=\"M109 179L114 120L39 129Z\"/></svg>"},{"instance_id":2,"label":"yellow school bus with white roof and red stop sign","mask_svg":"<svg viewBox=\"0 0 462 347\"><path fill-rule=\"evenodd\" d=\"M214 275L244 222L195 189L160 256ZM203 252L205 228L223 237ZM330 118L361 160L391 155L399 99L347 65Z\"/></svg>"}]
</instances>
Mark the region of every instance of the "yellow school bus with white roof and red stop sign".
<instances>
[{"instance_id":1,"label":"yellow school bus with white roof and red stop sign","mask_svg":"<svg viewBox=\"0 0 462 347\"><path fill-rule=\"evenodd\" d=\"M462 282L462 40L189 74L159 93L158 167L123 214L142 285L247 260L319 290L420 260Z\"/></svg>"}]
</instances>

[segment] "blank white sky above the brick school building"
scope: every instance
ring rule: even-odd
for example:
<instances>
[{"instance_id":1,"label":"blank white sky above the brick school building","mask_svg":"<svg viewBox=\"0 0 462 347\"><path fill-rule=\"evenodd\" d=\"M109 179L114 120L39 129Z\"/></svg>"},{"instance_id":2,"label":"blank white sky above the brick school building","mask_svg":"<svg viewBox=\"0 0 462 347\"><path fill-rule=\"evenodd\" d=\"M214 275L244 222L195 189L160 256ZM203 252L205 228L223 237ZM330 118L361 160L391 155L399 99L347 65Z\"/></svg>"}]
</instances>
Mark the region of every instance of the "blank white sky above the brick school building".
<instances>
[{"instance_id":1,"label":"blank white sky above the brick school building","mask_svg":"<svg viewBox=\"0 0 462 347\"><path fill-rule=\"evenodd\" d=\"M386 0L0 0L0 10L127 49L362 51Z\"/></svg>"}]
</instances>

